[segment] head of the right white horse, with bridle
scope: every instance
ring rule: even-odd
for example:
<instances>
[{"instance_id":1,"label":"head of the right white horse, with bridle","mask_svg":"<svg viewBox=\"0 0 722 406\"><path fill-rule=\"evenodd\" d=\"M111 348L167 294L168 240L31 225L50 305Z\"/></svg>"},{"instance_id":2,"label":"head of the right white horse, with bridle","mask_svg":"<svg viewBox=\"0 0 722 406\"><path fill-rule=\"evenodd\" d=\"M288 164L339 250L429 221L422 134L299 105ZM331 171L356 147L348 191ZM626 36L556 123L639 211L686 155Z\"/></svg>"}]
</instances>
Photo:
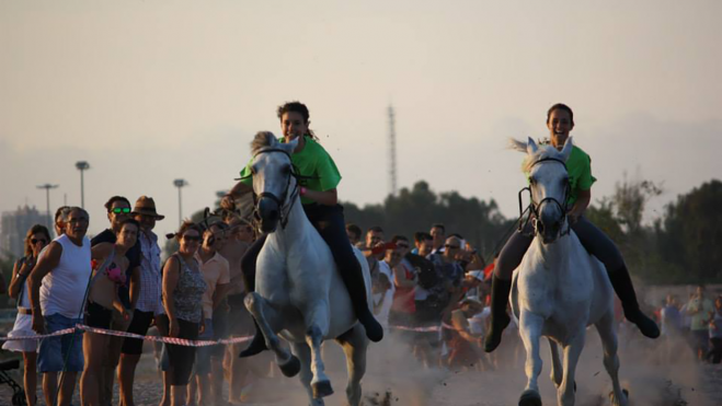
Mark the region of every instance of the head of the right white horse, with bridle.
<instances>
[{"instance_id":1,"label":"head of the right white horse, with bridle","mask_svg":"<svg viewBox=\"0 0 722 406\"><path fill-rule=\"evenodd\" d=\"M561 151L552 146L539 147L531 138L526 144L517 142L515 147L522 149L520 146L527 153L524 171L529 176L535 230L545 244L550 244L562 235L566 221L570 188L565 162L572 153L572 138Z\"/></svg>"}]
</instances>

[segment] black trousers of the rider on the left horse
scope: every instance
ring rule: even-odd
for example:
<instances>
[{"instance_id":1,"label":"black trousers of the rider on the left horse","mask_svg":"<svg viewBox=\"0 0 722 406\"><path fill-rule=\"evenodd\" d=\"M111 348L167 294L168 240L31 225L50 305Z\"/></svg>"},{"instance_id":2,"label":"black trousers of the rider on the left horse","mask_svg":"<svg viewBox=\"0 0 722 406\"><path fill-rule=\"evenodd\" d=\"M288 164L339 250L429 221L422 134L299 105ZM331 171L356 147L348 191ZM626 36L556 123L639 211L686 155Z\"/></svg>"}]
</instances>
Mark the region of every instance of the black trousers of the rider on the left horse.
<instances>
[{"instance_id":1,"label":"black trousers of the rider on the left horse","mask_svg":"<svg viewBox=\"0 0 722 406\"><path fill-rule=\"evenodd\" d=\"M336 263L342 277L344 277L344 281L347 282L345 276L362 276L362 286L358 290L364 292L365 295L366 288L363 286L362 268L351 246L348 235L346 234L346 221L343 216L343 206L311 204L303 205L303 211L306 211L306 216L316 230L318 230L319 234L321 234L323 241L329 244L331 254L333 255L333 260ZM241 259L243 282L245 282L249 292L255 290L255 260L261 253L261 248L263 248L263 244L265 244L266 237L267 234L259 237L249 247ZM348 283L346 283L346 286L349 288L349 293L353 295L354 292L351 292L352 287L349 287Z\"/></svg>"}]
</instances>

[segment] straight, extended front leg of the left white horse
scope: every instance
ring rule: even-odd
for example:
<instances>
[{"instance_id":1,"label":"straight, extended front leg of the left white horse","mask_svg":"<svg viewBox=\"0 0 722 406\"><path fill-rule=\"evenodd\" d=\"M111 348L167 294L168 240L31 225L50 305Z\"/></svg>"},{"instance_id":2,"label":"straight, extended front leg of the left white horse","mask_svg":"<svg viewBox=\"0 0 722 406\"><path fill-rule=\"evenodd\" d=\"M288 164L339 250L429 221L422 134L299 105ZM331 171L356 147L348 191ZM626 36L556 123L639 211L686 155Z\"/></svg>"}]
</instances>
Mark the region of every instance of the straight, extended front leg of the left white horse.
<instances>
[{"instance_id":1,"label":"straight, extended front leg of the left white horse","mask_svg":"<svg viewBox=\"0 0 722 406\"><path fill-rule=\"evenodd\" d=\"M313 371L311 388L313 390L313 397L330 396L333 394L333 388L329 376L325 374L321 355L323 337L329 334L329 303L326 301L317 302L305 314L306 344L311 348L311 371Z\"/></svg>"}]
</instances>

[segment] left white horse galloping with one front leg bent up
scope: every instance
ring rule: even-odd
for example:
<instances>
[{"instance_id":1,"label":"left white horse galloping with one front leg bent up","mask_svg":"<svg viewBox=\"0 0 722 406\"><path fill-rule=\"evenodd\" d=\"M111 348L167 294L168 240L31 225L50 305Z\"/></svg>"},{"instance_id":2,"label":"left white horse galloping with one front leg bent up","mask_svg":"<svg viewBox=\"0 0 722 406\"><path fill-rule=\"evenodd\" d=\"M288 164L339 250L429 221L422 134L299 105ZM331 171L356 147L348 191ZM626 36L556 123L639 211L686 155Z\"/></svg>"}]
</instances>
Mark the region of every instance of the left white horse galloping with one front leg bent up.
<instances>
[{"instance_id":1,"label":"left white horse galloping with one front leg bent up","mask_svg":"<svg viewBox=\"0 0 722 406\"><path fill-rule=\"evenodd\" d=\"M366 372L366 332L357 323L331 250L300 204L290 160L297 143L280 143L271 132L259 132L252 143L256 214L262 231L270 235L256 263L256 291L247 295L245 306L282 372L294 376L300 369L311 406L323 405L323 397L333 393L324 372L321 344L335 339L346 355L347 401L357 406ZM370 298L368 263L359 251L355 253ZM293 355L279 345L278 333L290 344Z\"/></svg>"}]
</instances>

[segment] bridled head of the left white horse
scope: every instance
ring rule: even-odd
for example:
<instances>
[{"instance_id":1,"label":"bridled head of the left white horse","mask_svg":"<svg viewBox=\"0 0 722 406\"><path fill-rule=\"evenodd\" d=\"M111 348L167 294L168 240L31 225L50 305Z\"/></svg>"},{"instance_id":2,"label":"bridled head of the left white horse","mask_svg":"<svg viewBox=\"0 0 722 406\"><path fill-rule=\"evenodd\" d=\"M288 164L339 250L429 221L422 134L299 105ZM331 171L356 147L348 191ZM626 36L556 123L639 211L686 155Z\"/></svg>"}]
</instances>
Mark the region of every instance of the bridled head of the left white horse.
<instances>
[{"instance_id":1,"label":"bridled head of the left white horse","mask_svg":"<svg viewBox=\"0 0 722 406\"><path fill-rule=\"evenodd\" d=\"M268 131L256 134L251 142L253 153L251 173L253 174L253 193L256 196L255 214L261 222L261 231L264 233L276 231L278 221L282 222L282 227L285 225L285 216L288 216L288 212L284 213L284 210L287 211L293 199L298 198L294 194L296 178L290 161L290 155L297 144L298 139L280 143Z\"/></svg>"}]
</instances>

